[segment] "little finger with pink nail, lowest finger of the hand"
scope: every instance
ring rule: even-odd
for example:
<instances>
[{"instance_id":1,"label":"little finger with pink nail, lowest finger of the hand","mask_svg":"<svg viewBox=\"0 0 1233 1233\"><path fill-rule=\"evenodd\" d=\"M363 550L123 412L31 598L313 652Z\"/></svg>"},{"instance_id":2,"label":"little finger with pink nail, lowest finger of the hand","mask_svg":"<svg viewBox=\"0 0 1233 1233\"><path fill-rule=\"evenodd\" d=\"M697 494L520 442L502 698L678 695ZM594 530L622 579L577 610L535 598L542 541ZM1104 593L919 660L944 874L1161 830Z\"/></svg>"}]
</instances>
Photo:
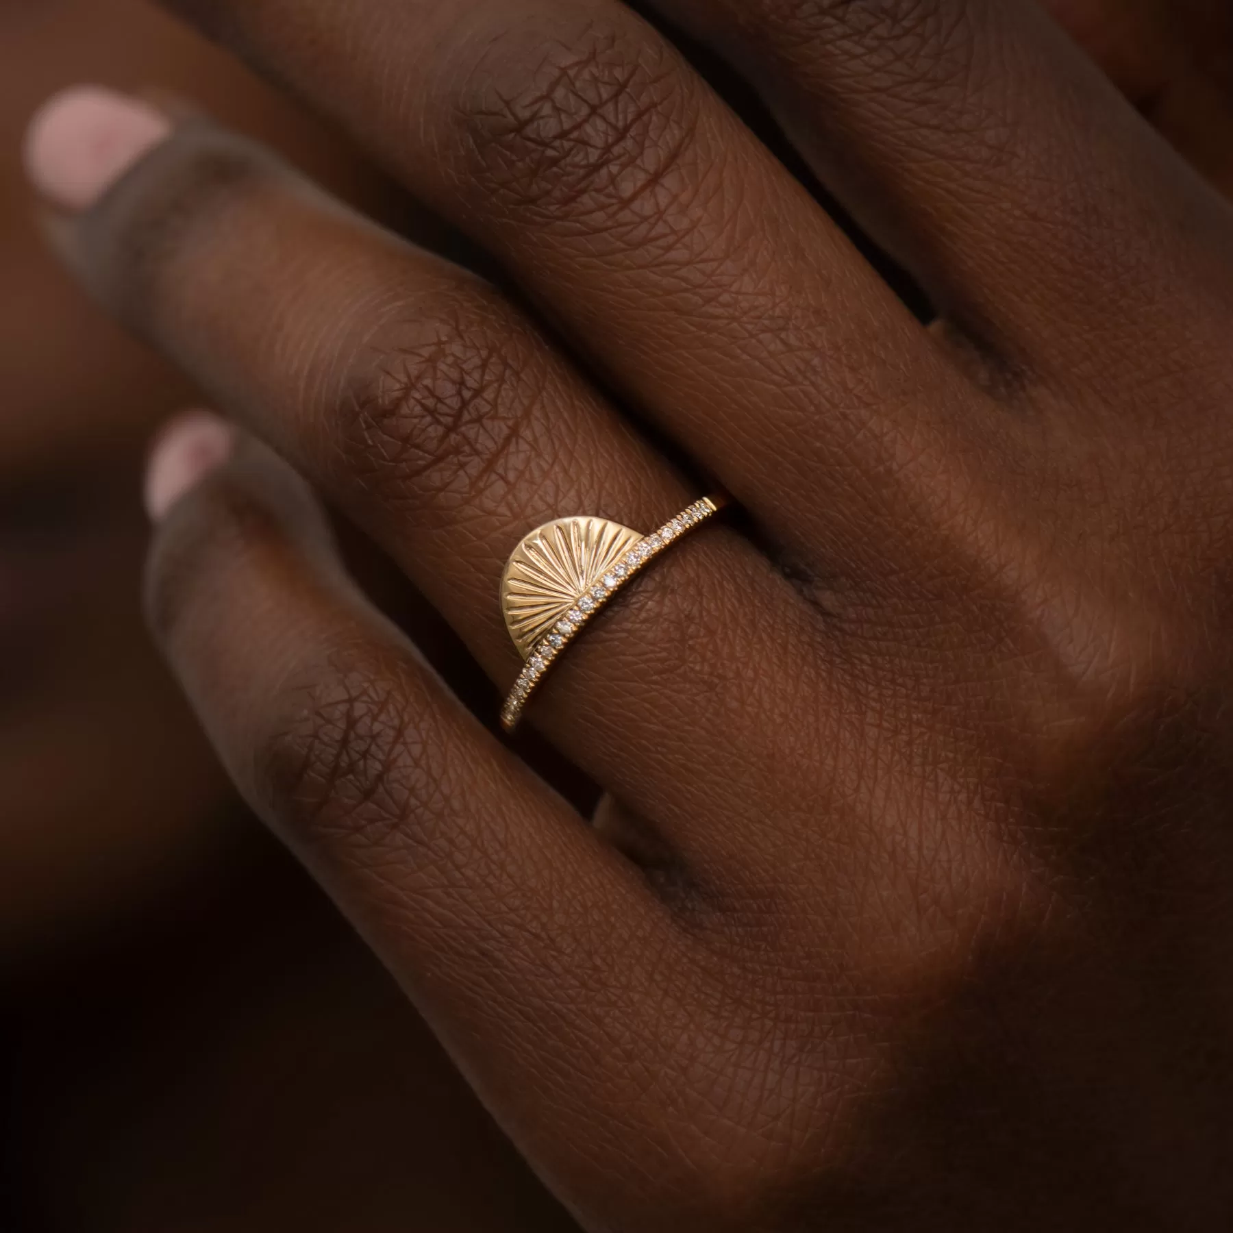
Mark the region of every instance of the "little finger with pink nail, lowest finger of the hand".
<instances>
[{"instance_id":1,"label":"little finger with pink nail, lowest finger of the hand","mask_svg":"<svg viewBox=\"0 0 1233 1233\"><path fill-rule=\"evenodd\" d=\"M356 594L298 478L252 443L222 462L226 433L194 417L154 451L148 604L244 795L550 1180L597 1184L631 1128L666 1148L625 1059L662 1053L684 944Z\"/></svg>"}]
</instances>

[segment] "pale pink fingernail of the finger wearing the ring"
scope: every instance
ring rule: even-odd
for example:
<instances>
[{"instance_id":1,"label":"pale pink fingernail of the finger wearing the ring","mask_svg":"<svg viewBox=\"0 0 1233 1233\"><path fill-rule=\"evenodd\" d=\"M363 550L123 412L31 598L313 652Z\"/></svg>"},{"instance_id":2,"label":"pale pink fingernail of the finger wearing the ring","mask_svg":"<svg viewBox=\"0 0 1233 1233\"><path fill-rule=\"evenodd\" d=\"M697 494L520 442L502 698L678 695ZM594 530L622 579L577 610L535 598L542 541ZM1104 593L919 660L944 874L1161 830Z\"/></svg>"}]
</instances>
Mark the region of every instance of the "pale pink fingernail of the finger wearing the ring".
<instances>
[{"instance_id":1,"label":"pale pink fingernail of the finger wearing the ring","mask_svg":"<svg viewBox=\"0 0 1233 1233\"><path fill-rule=\"evenodd\" d=\"M171 134L171 121L138 99L79 85L53 95L26 129L26 174L60 210L89 210Z\"/></svg>"}]
</instances>

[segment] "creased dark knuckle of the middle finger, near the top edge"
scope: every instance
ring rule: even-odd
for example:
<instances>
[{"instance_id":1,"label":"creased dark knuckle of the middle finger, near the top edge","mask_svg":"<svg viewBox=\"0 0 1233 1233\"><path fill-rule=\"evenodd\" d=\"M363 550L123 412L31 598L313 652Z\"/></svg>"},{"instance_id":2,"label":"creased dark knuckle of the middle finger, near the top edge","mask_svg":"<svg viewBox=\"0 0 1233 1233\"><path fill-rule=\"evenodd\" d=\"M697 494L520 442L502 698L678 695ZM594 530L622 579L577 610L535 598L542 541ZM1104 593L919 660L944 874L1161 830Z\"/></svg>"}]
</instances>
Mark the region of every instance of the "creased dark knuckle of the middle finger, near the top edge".
<instances>
[{"instance_id":1,"label":"creased dark knuckle of the middle finger, near the top edge","mask_svg":"<svg viewBox=\"0 0 1233 1233\"><path fill-rule=\"evenodd\" d=\"M676 53L623 18L573 37L497 37L453 100L480 187L534 216L649 215L679 191L676 174L697 96Z\"/></svg>"}]
</instances>

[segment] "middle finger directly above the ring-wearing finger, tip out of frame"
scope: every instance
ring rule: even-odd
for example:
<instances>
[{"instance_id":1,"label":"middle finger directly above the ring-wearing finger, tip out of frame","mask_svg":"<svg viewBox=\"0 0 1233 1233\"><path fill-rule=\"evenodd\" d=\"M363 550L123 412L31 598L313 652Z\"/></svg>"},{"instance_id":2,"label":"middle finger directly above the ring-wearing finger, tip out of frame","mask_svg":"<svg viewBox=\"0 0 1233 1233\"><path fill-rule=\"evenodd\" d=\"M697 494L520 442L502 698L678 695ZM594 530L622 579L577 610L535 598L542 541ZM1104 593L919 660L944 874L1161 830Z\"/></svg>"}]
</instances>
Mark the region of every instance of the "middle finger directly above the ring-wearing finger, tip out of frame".
<instances>
[{"instance_id":1,"label":"middle finger directly above the ring-wearing finger, tip out of frame","mask_svg":"<svg viewBox=\"0 0 1233 1233\"><path fill-rule=\"evenodd\" d=\"M869 472L967 429L917 322L616 0L173 6L332 110L815 566L840 538L878 561Z\"/></svg>"}]
</instances>

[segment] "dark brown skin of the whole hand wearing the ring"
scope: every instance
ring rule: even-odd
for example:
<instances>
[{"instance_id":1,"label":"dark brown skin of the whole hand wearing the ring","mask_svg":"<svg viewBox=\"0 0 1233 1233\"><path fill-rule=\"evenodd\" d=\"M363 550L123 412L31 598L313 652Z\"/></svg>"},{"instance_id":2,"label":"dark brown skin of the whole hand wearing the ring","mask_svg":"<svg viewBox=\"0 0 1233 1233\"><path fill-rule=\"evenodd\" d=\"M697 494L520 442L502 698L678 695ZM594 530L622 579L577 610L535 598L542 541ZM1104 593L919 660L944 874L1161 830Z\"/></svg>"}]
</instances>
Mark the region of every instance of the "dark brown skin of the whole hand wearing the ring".
<instances>
[{"instance_id":1,"label":"dark brown skin of the whole hand wearing the ring","mask_svg":"<svg viewBox=\"0 0 1233 1233\"><path fill-rule=\"evenodd\" d=\"M240 788L581 1223L1227 1228L1218 194L1031 5L673 0L931 333L612 0L182 7L571 342L202 125L68 227L499 687L522 534L698 491L629 408L757 531L674 549L534 705L653 862L464 711L265 448L159 531L154 625Z\"/></svg>"}]
</instances>

